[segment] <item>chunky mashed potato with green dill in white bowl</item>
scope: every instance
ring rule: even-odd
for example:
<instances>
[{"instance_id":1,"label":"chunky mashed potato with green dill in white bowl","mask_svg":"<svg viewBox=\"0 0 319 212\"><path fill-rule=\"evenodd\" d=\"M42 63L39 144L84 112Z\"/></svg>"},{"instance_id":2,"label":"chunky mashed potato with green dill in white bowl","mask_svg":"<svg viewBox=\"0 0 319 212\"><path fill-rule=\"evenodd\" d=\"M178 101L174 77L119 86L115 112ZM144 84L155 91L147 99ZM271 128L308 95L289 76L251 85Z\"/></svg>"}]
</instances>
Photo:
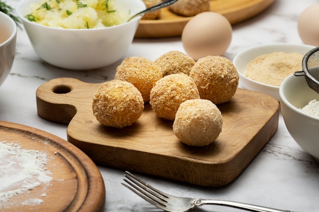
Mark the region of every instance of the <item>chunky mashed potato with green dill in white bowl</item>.
<instances>
[{"instance_id":1,"label":"chunky mashed potato with green dill in white bowl","mask_svg":"<svg viewBox=\"0 0 319 212\"><path fill-rule=\"evenodd\" d=\"M116 0L43 0L30 6L30 21L58 28L102 28L126 22L129 11L117 10Z\"/></svg>"}]
</instances>

